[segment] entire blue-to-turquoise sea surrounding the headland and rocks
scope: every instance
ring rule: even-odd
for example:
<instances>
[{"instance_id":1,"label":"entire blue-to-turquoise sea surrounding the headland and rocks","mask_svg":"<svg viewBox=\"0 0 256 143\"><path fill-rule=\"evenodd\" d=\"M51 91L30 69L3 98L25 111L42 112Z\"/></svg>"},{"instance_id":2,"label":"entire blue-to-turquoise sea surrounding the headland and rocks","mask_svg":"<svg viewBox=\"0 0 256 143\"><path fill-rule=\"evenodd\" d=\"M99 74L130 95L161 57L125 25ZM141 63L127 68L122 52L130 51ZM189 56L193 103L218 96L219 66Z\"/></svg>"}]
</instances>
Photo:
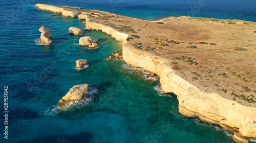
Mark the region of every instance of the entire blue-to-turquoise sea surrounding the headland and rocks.
<instances>
[{"instance_id":1,"label":"entire blue-to-turquoise sea surrounding the headland and rocks","mask_svg":"<svg viewBox=\"0 0 256 143\"><path fill-rule=\"evenodd\" d=\"M233 142L232 132L178 112L174 94L163 94L158 80L124 61L106 61L120 42L101 31L70 35L84 28L78 18L41 11L37 3L79 6L142 19L193 14L197 17L256 22L253 1L2 1L0 6L0 83L8 86L8 139L4 138L4 96L0 98L0 142ZM197 7L198 6L198 7ZM198 10L193 10L199 8ZM38 43L40 26L51 29L53 45ZM99 38L98 49L78 44ZM87 59L89 67L74 69ZM90 98L56 110L77 84L94 88Z\"/></svg>"}]
</instances>

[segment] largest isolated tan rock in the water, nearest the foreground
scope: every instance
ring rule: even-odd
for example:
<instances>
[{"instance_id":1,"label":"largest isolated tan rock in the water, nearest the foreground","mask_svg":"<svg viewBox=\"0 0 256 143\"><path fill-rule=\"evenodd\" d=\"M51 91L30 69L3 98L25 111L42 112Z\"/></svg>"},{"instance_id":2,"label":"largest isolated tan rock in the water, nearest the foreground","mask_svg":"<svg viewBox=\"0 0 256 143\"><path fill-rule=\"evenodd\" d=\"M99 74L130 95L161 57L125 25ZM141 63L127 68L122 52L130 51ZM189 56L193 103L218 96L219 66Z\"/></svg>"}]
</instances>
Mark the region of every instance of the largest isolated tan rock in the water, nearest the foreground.
<instances>
[{"instance_id":1,"label":"largest isolated tan rock in the water, nearest the foreground","mask_svg":"<svg viewBox=\"0 0 256 143\"><path fill-rule=\"evenodd\" d=\"M75 85L69 92L59 100L57 108L60 109L70 102L80 101L88 96L88 84Z\"/></svg>"}]
</instances>

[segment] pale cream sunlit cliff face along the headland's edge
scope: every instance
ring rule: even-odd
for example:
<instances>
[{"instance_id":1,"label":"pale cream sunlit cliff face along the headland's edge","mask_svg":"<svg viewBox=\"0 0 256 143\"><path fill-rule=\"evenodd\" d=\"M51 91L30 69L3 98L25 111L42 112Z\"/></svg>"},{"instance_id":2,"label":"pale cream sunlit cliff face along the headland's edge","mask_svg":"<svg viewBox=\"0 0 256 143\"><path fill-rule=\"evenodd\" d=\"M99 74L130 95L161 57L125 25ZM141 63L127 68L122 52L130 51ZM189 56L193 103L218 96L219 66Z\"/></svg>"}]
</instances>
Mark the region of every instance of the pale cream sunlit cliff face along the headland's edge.
<instances>
[{"instance_id":1,"label":"pale cream sunlit cliff face along the headland's edge","mask_svg":"<svg viewBox=\"0 0 256 143\"><path fill-rule=\"evenodd\" d=\"M77 17L80 15L79 12L63 10L55 6L46 6L43 8L41 6L38 7L40 9L62 13L63 16ZM87 20L87 28L101 30L106 34L112 35L117 41L122 41L123 59L126 64L156 73L160 77L163 92L173 92L177 95L179 112L182 115L187 117L198 116L203 121L219 124L225 129L236 132L233 138L238 142L248 142L248 139L256 139L256 124L254 123L256 117L253 116L256 115L256 108L227 100L216 93L209 94L200 91L195 85L176 74L166 59L158 55L137 50L131 45L126 44L126 38L129 37L129 34L117 31L108 25L96 23L90 20L90 16L84 17L84 19Z\"/></svg>"}]
</instances>

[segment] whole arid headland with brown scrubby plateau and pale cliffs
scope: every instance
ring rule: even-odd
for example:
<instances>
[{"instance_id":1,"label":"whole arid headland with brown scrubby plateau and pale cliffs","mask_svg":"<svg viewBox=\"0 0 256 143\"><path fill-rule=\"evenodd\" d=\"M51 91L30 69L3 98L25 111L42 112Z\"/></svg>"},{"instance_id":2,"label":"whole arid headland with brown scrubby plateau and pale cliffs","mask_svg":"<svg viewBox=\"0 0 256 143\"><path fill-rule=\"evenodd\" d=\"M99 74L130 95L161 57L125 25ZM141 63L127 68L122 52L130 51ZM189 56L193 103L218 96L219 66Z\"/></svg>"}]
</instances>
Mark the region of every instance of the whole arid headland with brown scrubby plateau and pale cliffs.
<instances>
[{"instance_id":1,"label":"whole arid headland with brown scrubby plateau and pale cliffs","mask_svg":"<svg viewBox=\"0 0 256 143\"><path fill-rule=\"evenodd\" d=\"M163 92L177 95L183 115L220 124L235 132L238 142L256 140L256 22L187 16L148 21L35 6L85 19L85 30L101 30L122 41L124 61L157 74Z\"/></svg>"}]
</instances>

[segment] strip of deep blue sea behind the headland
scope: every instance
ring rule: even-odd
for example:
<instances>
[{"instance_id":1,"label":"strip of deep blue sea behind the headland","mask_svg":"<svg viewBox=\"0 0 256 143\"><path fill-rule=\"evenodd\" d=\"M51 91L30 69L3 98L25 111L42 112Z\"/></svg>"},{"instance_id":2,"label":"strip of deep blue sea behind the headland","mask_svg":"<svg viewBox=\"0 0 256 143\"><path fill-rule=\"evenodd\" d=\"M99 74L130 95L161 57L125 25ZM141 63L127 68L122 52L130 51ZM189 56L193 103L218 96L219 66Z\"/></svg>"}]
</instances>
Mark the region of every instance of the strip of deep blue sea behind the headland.
<instances>
[{"instance_id":1,"label":"strip of deep blue sea behind the headland","mask_svg":"<svg viewBox=\"0 0 256 143\"><path fill-rule=\"evenodd\" d=\"M166 0L167 1L167 0ZM255 2L242 2L242 1L100 1L97 4L90 0L83 1L33 1L33 3L49 4L49 5L66 5L83 7L89 10L101 10L121 14L125 16L132 16L147 20L157 20L169 16L192 16L204 18L217 18L217 19L240 19L246 21L256 22L256 6ZM76 2L74 4L74 2ZM131 3L134 2L134 3ZM128 5L129 4L129 5Z\"/></svg>"}]
</instances>

